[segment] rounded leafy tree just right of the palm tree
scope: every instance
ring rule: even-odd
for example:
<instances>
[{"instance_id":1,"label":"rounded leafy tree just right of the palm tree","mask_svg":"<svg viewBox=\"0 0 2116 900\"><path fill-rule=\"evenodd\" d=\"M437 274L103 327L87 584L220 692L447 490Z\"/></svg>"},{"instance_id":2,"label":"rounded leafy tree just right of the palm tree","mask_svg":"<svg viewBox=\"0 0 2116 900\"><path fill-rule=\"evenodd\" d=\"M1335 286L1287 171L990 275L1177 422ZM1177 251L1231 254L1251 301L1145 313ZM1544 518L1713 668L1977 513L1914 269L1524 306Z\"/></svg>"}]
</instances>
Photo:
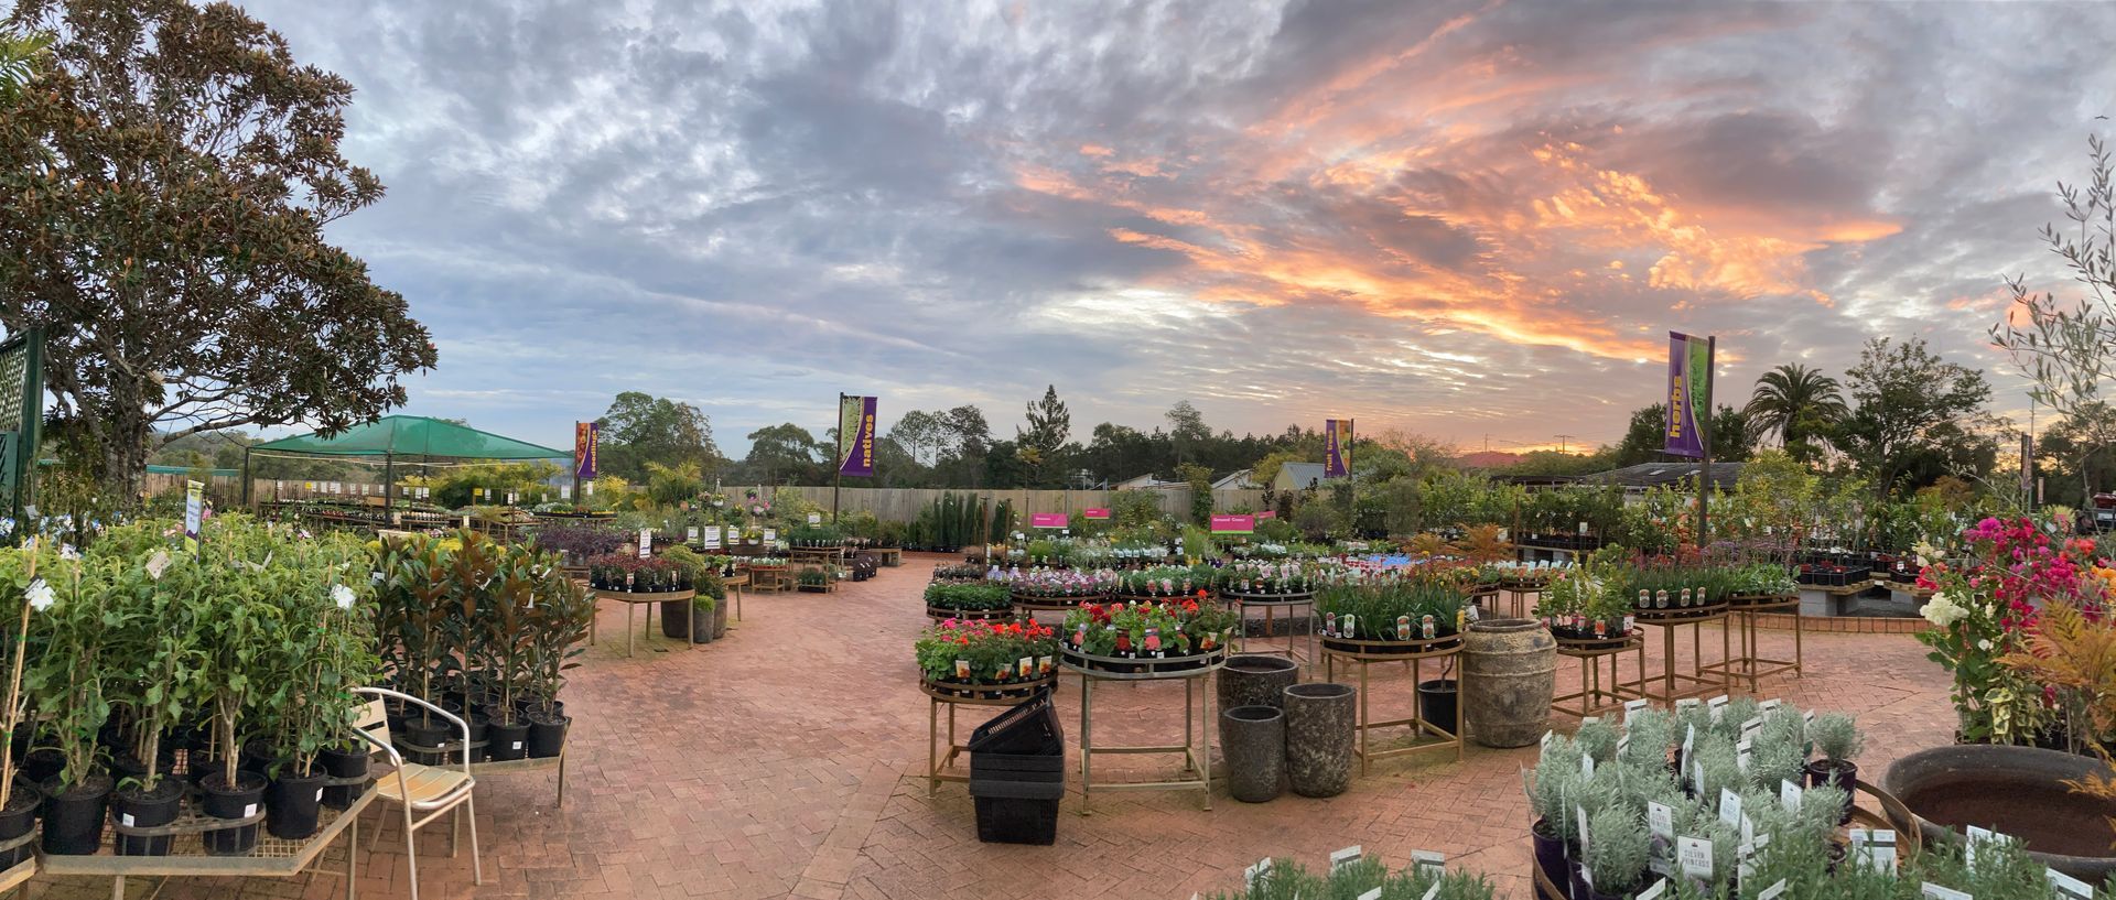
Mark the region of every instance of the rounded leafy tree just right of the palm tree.
<instances>
[{"instance_id":1,"label":"rounded leafy tree just right of the palm tree","mask_svg":"<svg viewBox=\"0 0 2116 900\"><path fill-rule=\"evenodd\" d=\"M1845 387L1856 408L1830 429L1832 444L1881 496L1953 471L1989 471L1998 456L1998 442L1981 433L1991 399L1985 374L1940 359L1919 338L1868 340Z\"/></svg>"}]
</instances>

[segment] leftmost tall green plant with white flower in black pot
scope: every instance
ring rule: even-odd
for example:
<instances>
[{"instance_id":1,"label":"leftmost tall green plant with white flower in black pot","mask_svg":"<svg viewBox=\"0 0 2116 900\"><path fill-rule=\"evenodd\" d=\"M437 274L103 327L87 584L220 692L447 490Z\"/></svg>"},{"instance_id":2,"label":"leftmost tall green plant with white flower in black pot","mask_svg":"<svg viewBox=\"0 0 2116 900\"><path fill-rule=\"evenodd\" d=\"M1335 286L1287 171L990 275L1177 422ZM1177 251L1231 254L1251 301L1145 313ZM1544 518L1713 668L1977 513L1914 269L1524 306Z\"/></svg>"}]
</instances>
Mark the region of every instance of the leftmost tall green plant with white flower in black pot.
<instances>
[{"instance_id":1,"label":"leftmost tall green plant with white flower in black pot","mask_svg":"<svg viewBox=\"0 0 2116 900\"><path fill-rule=\"evenodd\" d=\"M110 718L104 566L44 560L40 568L49 577L28 585L28 602L40 611L32 627L42 649L30 665L28 685L63 761L59 773L42 784L44 854L85 856L102 847L112 788L97 744Z\"/></svg>"}]
</instances>

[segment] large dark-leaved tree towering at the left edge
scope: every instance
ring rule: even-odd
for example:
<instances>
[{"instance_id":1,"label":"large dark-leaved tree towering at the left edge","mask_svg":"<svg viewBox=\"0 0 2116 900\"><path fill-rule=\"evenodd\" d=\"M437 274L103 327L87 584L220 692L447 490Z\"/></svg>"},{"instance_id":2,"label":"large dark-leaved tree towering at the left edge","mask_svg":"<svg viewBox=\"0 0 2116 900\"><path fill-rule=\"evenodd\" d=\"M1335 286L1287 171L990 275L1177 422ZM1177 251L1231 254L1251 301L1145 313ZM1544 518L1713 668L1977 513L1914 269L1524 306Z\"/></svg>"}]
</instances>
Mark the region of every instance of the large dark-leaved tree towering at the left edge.
<instances>
[{"instance_id":1,"label":"large dark-leaved tree towering at the left edge","mask_svg":"<svg viewBox=\"0 0 2116 900\"><path fill-rule=\"evenodd\" d=\"M138 496L159 442L332 433L404 404L425 327L324 226L383 194L339 154L353 87L235 4L21 0L53 36L0 120L0 325L44 327L53 414Z\"/></svg>"}]
</instances>

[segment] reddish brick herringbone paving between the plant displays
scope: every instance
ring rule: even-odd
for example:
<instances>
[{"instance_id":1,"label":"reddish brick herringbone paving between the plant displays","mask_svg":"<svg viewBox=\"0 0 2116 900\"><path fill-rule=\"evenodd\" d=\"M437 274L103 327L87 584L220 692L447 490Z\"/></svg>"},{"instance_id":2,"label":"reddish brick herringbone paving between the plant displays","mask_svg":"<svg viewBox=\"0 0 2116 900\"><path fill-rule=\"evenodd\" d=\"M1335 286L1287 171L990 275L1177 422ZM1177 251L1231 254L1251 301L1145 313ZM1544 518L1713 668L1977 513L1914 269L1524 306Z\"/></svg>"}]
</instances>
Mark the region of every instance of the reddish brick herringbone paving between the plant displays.
<instances>
[{"instance_id":1,"label":"reddish brick herringbone paving between the plant displays","mask_svg":"<svg viewBox=\"0 0 2116 900\"><path fill-rule=\"evenodd\" d=\"M1200 811L1196 792L1132 792L1096 794L1094 815L1081 818L1075 784L1056 847L980 845L965 788L944 784L927 799L923 777L927 701L910 640L925 623L918 596L935 560L910 556L904 568L832 596L751 596L728 640L696 651L664 642L635 659L622 657L624 611L605 604L603 642L567 695L576 733L565 807L552 805L550 773L480 780L485 885L472 887L468 854L446 858L446 828L430 828L421 896L1187 898L1240 883L1259 856L1322 862L1352 843L1390 864L1439 849L1449 864L1498 877L1500 896L1528 896L1519 769L1534 750L1380 761L1335 799L1242 805L1221 792L1212 811ZM1716 646L1705 630L1708 657ZM1765 649L1790 651L1790 634L1765 632ZM1809 634L1807 661L1809 676L1767 682L1763 695L1858 714L1871 733L1866 771L1949 739L1945 676L1909 636ZM1559 663L1566 691L1576 665ZM1375 678L1378 712L1407 701L1401 676ZM1060 710L1075 742L1077 701L1069 678ZM1181 729L1179 704L1174 685L1098 689L1096 742L1168 742ZM1170 767L1098 758L1096 773L1105 769ZM366 824L375 822L370 811ZM402 856L402 835L383 824L379 845L362 849L360 896L408 896ZM129 894L150 896L154 881L135 879ZM341 892L330 877L159 885L161 898ZM108 898L110 883L42 879L34 896Z\"/></svg>"}]
</instances>

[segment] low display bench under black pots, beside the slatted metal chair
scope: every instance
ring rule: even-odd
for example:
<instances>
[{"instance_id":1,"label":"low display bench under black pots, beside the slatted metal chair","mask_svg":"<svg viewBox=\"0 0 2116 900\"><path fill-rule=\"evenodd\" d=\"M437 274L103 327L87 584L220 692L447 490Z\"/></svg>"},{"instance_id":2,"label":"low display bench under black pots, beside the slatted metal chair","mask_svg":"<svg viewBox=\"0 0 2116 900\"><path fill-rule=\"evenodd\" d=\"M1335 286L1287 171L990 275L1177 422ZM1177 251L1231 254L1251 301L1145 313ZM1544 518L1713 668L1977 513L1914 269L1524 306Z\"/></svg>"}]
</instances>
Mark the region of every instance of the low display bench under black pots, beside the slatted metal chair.
<instances>
[{"instance_id":1,"label":"low display bench under black pots, beside the slatted metal chair","mask_svg":"<svg viewBox=\"0 0 2116 900\"><path fill-rule=\"evenodd\" d=\"M110 877L110 896L114 900L125 898L125 879L129 877L207 877L207 879L292 879L303 870L309 870L313 862L324 856L339 835L345 835L345 898L353 900L358 887L358 847L360 847L360 813L375 803L375 782L360 792L358 799L347 809L324 807L317 820L315 835L288 841L271 837L264 830L264 811L245 820L218 820L203 818L197 813L186 813L174 824L157 828L127 828L123 824L110 824L104 832L104 851L95 856L40 856L36 860L38 875L89 875L89 877ZM220 830L231 824L258 824L258 843L245 856L207 856L205 841L188 841L190 835L203 835L207 830ZM171 837L169 856L116 856L112 843L118 835L129 837ZM11 868L11 877L21 866ZM322 868L315 868L322 873Z\"/></svg>"}]
</instances>

